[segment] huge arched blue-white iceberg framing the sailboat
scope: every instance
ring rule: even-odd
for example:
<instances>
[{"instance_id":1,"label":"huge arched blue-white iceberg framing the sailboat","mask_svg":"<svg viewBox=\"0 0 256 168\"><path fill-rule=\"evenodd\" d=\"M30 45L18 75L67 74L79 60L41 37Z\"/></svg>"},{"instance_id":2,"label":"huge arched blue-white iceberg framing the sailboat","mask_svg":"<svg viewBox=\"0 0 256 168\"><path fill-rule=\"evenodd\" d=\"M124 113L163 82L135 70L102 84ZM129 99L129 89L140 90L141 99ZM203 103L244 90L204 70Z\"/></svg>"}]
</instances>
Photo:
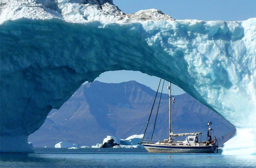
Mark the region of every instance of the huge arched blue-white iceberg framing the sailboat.
<instances>
[{"instance_id":1,"label":"huge arched blue-white iceberg framing the sailboat","mask_svg":"<svg viewBox=\"0 0 256 168\"><path fill-rule=\"evenodd\" d=\"M125 14L112 0L2 0L0 10L1 152L31 152L28 135L85 81L133 70L178 85L232 123L237 136L224 154L256 154L256 18Z\"/></svg>"}]
</instances>

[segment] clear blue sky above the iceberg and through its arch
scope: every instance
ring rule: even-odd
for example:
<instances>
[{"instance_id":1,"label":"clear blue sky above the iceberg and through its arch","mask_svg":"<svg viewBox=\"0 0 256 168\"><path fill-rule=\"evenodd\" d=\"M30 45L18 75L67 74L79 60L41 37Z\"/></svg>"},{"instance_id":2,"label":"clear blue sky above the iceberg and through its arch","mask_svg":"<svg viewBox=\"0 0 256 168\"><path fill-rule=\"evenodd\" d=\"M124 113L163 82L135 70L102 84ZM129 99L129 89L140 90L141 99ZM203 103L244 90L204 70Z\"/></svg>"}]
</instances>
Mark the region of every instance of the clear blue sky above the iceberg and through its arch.
<instances>
[{"instance_id":1,"label":"clear blue sky above the iceberg and through its arch","mask_svg":"<svg viewBox=\"0 0 256 168\"><path fill-rule=\"evenodd\" d=\"M256 0L113 0L113 3L124 13L154 8L174 19L235 21L256 17ZM138 71L112 71L101 74L95 80L105 83L135 80L157 90L160 78ZM164 92L168 93L168 90L164 89ZM172 95L183 93L181 88L172 85Z\"/></svg>"}]
</instances>

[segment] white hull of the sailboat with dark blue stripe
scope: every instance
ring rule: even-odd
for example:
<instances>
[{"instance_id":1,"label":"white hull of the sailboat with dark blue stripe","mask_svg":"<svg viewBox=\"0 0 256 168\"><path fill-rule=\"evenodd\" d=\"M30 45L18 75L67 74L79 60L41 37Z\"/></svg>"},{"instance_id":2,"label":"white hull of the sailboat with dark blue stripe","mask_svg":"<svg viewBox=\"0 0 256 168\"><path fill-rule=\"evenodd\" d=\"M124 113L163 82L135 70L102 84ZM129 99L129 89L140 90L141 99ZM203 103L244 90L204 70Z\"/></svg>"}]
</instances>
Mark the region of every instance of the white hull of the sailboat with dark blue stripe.
<instances>
[{"instance_id":1,"label":"white hull of the sailboat with dark blue stripe","mask_svg":"<svg viewBox=\"0 0 256 168\"><path fill-rule=\"evenodd\" d=\"M214 153L216 146L174 146L142 143L151 153Z\"/></svg>"}]
</instances>

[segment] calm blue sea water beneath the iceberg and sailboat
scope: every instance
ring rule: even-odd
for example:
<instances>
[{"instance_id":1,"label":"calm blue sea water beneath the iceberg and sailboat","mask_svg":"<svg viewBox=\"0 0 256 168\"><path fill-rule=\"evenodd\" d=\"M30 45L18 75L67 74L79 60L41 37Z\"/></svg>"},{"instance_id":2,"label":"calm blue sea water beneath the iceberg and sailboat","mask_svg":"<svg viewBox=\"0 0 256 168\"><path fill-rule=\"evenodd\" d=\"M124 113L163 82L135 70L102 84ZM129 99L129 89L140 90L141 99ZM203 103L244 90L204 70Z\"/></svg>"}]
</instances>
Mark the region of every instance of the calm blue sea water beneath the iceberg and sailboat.
<instances>
[{"instance_id":1,"label":"calm blue sea water beneath the iceberg and sailboat","mask_svg":"<svg viewBox=\"0 0 256 168\"><path fill-rule=\"evenodd\" d=\"M256 167L256 156L152 154L145 149L35 148L34 154L1 154L0 167Z\"/></svg>"}]
</instances>

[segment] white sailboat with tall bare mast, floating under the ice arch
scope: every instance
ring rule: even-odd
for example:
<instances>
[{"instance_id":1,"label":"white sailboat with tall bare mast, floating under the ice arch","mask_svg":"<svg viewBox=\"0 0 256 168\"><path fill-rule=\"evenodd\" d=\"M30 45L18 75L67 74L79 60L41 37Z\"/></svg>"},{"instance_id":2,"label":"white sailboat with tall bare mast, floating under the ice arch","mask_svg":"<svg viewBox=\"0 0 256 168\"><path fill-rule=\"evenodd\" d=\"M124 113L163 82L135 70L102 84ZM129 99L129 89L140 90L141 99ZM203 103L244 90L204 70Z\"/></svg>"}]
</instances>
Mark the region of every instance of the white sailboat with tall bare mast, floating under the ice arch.
<instances>
[{"instance_id":1,"label":"white sailboat with tall bare mast, floating under the ice arch","mask_svg":"<svg viewBox=\"0 0 256 168\"><path fill-rule=\"evenodd\" d=\"M161 83L161 80L159 82L159 85L160 83ZM207 126L208 126L207 140L204 142L201 142L201 141L199 142L198 140L198 135L201 135L202 132L174 134L171 131L171 83L169 83L168 89L169 89L169 137L168 139L164 139L163 141L158 141L154 143L152 142L152 137L151 139L145 139L144 138L145 134L144 134L144 137L142 138L142 142L140 142L140 144L143 145L146 148L146 150L151 153L217 153L218 141L216 137L214 138L214 140L212 140L212 136L214 136L213 129L211 127L212 122L207 122ZM160 99L161 99L161 96L160 96ZM175 99L173 98L173 100ZM160 104L160 101L159 101L159 104ZM148 123L146 126L146 130L148 127ZM145 130L145 133L146 133L146 130ZM153 133L152 133L152 136L153 136ZM185 140L175 141L177 137L182 137L182 139L184 139L184 137L186 138Z\"/></svg>"}]
</instances>

